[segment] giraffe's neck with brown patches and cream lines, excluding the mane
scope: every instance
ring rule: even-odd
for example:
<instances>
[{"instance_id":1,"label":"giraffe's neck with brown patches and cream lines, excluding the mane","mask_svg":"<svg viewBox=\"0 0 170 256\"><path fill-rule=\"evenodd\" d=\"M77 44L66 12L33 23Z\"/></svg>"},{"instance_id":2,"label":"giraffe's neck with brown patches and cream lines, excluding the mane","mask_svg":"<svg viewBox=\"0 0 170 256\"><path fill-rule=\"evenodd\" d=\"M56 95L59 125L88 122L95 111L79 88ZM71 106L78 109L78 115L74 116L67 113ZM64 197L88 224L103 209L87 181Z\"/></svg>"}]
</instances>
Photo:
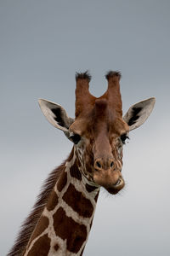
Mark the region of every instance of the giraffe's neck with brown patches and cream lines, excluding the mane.
<instances>
[{"instance_id":1,"label":"giraffe's neck with brown patches and cream lines, excluding the mane","mask_svg":"<svg viewBox=\"0 0 170 256\"><path fill-rule=\"evenodd\" d=\"M23 256L82 255L99 195L72 154L65 162Z\"/></svg>"}]
</instances>

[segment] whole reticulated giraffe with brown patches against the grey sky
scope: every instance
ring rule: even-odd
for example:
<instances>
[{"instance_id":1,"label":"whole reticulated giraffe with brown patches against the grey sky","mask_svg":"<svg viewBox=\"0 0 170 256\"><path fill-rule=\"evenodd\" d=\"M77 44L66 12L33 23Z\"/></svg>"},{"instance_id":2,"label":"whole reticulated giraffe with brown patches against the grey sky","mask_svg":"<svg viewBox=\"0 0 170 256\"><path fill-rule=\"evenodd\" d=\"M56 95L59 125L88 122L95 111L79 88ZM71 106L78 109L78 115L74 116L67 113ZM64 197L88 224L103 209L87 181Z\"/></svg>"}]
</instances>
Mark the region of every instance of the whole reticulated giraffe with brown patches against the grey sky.
<instances>
[{"instance_id":1,"label":"whole reticulated giraffe with brown patches against the grey sky","mask_svg":"<svg viewBox=\"0 0 170 256\"><path fill-rule=\"evenodd\" d=\"M156 99L134 104L122 117L121 73L106 73L108 89L95 97L88 72L76 74L76 113L40 99L42 113L73 143L71 154L54 169L22 226L8 256L82 255L100 187L116 195L124 187L122 147L129 131L149 117Z\"/></svg>"}]
</instances>

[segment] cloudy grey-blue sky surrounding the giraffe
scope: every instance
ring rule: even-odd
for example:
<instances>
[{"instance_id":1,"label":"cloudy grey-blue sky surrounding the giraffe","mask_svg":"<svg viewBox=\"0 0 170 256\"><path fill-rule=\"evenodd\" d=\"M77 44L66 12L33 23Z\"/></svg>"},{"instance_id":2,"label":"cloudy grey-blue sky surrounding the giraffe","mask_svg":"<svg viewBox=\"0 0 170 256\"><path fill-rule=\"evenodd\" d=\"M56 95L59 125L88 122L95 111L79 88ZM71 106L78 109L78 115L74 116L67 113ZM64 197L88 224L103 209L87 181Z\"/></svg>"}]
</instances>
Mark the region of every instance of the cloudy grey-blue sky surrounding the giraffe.
<instances>
[{"instance_id":1,"label":"cloudy grey-blue sky surrounding the giraffe","mask_svg":"<svg viewBox=\"0 0 170 256\"><path fill-rule=\"evenodd\" d=\"M95 96L106 71L122 72L124 113L150 96L156 107L124 148L126 188L99 197L84 255L170 255L169 31L168 0L0 1L1 255L72 146L37 99L73 117L75 73L87 69Z\"/></svg>"}]
</instances>

